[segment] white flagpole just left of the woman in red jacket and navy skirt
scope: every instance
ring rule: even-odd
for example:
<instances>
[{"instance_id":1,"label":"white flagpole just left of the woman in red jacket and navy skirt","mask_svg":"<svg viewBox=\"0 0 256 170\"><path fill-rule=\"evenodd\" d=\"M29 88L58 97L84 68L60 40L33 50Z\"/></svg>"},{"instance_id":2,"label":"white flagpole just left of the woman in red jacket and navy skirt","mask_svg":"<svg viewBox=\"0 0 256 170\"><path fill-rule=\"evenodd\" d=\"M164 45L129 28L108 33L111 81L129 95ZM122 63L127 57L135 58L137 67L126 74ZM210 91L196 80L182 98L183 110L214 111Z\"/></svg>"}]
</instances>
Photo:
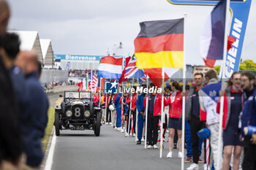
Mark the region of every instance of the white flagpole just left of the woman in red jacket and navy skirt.
<instances>
[{"instance_id":1,"label":"white flagpole just left of the woman in red jacket and navy skirt","mask_svg":"<svg viewBox=\"0 0 256 170\"><path fill-rule=\"evenodd\" d=\"M163 139L162 139L162 121L164 120L163 116L163 109L164 109L164 83L165 83L165 67L162 68L162 104L161 104L161 128L160 128L160 155L159 157L162 158L162 145L163 145Z\"/></svg>"}]
</instances>

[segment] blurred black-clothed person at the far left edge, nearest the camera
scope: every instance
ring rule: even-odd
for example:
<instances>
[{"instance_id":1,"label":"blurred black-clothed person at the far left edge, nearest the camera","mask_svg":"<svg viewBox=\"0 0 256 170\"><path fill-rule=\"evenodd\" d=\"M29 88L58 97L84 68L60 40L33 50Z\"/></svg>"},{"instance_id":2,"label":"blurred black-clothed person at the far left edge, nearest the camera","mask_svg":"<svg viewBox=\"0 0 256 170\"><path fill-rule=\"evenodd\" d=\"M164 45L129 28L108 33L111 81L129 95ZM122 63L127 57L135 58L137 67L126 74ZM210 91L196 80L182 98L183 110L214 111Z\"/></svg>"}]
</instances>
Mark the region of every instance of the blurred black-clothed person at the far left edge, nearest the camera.
<instances>
[{"instance_id":1,"label":"blurred black-clothed person at the far left edge, nearest the camera","mask_svg":"<svg viewBox=\"0 0 256 170\"><path fill-rule=\"evenodd\" d=\"M15 101L15 89L7 69L6 58L1 54L6 45L2 42L6 34L9 15L9 5L6 1L0 1L0 169L4 164L16 169L22 154L22 138L18 127L19 109Z\"/></svg>"}]
</instances>

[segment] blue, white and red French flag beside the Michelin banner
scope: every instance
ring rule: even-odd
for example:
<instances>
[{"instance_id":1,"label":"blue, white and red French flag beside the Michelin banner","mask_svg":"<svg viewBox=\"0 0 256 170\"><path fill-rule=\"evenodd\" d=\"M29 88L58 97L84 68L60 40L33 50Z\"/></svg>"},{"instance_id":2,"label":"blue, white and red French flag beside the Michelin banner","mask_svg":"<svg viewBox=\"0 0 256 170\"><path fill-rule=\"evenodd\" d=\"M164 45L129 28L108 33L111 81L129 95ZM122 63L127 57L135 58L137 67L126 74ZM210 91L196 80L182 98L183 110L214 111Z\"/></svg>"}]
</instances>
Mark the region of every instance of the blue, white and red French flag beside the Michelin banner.
<instances>
[{"instance_id":1,"label":"blue, white and red French flag beside the Michelin banner","mask_svg":"<svg viewBox=\"0 0 256 170\"><path fill-rule=\"evenodd\" d=\"M206 66L223 59L227 0L221 0L208 16L200 36L200 54Z\"/></svg>"}]
</instances>

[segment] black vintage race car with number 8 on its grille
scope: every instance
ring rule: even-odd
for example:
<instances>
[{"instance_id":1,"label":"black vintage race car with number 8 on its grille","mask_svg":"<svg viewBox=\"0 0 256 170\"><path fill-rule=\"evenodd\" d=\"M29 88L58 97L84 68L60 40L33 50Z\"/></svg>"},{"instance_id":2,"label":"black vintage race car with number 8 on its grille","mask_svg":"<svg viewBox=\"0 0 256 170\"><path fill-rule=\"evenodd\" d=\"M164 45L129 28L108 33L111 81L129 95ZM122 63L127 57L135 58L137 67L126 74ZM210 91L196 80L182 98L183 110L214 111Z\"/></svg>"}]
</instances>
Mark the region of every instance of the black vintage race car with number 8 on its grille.
<instances>
[{"instance_id":1,"label":"black vintage race car with number 8 on its grille","mask_svg":"<svg viewBox=\"0 0 256 170\"><path fill-rule=\"evenodd\" d=\"M65 91L61 106L55 108L56 136L60 130L94 130L95 136L100 134L101 108L94 107L91 91Z\"/></svg>"}]
</instances>

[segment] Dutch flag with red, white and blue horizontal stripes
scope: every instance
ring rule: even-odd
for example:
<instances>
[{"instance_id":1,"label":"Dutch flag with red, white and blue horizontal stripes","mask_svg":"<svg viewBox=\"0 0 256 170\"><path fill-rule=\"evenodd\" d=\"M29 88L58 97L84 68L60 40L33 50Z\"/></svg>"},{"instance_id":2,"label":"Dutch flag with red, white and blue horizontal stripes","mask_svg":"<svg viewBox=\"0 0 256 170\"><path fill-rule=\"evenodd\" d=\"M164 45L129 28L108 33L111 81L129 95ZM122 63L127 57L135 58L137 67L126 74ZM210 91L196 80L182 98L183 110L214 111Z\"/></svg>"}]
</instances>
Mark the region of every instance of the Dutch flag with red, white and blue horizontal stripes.
<instances>
[{"instance_id":1,"label":"Dutch flag with red, white and blue horizontal stripes","mask_svg":"<svg viewBox=\"0 0 256 170\"><path fill-rule=\"evenodd\" d=\"M99 77L118 80L122 73L123 58L102 57L99 63Z\"/></svg>"}]
</instances>

